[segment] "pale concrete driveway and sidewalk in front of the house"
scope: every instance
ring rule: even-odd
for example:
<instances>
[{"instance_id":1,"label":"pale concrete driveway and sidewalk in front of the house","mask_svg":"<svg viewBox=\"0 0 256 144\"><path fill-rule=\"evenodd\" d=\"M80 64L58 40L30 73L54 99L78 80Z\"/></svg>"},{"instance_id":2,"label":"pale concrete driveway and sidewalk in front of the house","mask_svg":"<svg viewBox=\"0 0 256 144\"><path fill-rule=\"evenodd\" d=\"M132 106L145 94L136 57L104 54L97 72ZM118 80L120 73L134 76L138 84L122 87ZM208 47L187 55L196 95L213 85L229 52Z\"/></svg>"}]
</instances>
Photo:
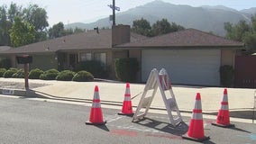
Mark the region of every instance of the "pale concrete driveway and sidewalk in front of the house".
<instances>
[{"instance_id":1,"label":"pale concrete driveway and sidewalk in front of the house","mask_svg":"<svg viewBox=\"0 0 256 144\"><path fill-rule=\"evenodd\" d=\"M20 78L0 78L0 81L23 83ZM115 81L94 82L66 82L55 80L29 80L32 84L45 84L45 86L32 88L36 94L49 98L67 99L69 101L88 101L93 99L94 88L99 87L99 95L102 103L122 104L125 83ZM130 84L133 106L137 106L141 100L145 84ZM201 94L202 110L206 113L216 114L223 100L224 87L204 87L190 85L172 85L178 108L181 112L192 112L195 105L196 94ZM228 104L231 116L251 119L254 107L255 89L250 88L227 88ZM151 93L149 93L150 95ZM157 91L151 108L165 109L165 105Z\"/></svg>"}]
</instances>

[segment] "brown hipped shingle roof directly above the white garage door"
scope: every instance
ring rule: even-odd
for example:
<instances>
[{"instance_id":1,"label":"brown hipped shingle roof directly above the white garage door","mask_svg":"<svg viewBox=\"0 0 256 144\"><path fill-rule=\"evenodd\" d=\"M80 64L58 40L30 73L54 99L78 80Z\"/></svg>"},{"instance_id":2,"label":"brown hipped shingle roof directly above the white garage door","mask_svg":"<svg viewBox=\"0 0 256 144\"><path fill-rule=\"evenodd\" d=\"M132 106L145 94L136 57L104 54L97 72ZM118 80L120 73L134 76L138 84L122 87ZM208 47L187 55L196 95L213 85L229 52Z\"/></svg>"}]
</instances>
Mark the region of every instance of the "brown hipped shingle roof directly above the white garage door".
<instances>
[{"instance_id":1,"label":"brown hipped shingle roof directly above the white garage door","mask_svg":"<svg viewBox=\"0 0 256 144\"><path fill-rule=\"evenodd\" d=\"M227 40L204 31L187 29L170 32L146 40L118 45L118 48L175 48L175 47L243 47L243 43Z\"/></svg>"}]
</instances>

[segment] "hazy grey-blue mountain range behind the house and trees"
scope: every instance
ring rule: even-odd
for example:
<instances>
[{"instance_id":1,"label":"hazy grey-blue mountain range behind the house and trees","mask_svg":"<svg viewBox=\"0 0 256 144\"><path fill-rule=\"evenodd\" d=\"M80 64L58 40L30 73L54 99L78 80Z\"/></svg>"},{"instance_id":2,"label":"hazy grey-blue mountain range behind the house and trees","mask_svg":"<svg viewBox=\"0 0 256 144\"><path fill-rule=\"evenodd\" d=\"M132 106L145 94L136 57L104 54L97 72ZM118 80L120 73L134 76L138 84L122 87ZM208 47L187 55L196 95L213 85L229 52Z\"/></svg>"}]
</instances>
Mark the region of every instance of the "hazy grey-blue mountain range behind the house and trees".
<instances>
[{"instance_id":1,"label":"hazy grey-blue mountain range behind the house and trees","mask_svg":"<svg viewBox=\"0 0 256 144\"><path fill-rule=\"evenodd\" d=\"M213 31L215 34L224 36L224 23L238 23L240 20L251 21L251 15L256 13L256 7L237 11L223 5L192 7L184 4L169 4L160 0L153 1L142 6L134 7L123 13L116 14L117 24L133 25L134 20L142 17L151 24L163 18L169 23L177 23L185 28L194 28L201 31ZM66 25L67 28L77 25L79 28L91 30L95 27L111 27L109 18L103 18L95 23L73 23Z\"/></svg>"}]
</instances>

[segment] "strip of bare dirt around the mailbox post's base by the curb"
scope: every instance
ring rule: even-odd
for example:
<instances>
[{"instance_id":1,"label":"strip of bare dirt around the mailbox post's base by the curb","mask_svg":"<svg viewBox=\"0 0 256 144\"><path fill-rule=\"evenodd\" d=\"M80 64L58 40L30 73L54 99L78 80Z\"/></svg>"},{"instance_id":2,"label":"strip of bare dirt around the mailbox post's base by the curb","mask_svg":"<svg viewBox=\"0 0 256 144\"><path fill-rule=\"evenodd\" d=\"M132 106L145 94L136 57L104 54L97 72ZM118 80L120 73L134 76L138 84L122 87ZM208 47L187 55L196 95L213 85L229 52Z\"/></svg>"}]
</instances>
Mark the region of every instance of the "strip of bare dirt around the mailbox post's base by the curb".
<instances>
[{"instance_id":1,"label":"strip of bare dirt around the mailbox post's base by the curb","mask_svg":"<svg viewBox=\"0 0 256 144\"><path fill-rule=\"evenodd\" d=\"M30 83L29 87L30 89L32 88L37 88L41 86L46 86L50 84L37 84L37 83ZM12 88L12 89L24 89L25 84L24 83L19 83L19 82L1 82L0 81L0 87L2 88Z\"/></svg>"}]
</instances>

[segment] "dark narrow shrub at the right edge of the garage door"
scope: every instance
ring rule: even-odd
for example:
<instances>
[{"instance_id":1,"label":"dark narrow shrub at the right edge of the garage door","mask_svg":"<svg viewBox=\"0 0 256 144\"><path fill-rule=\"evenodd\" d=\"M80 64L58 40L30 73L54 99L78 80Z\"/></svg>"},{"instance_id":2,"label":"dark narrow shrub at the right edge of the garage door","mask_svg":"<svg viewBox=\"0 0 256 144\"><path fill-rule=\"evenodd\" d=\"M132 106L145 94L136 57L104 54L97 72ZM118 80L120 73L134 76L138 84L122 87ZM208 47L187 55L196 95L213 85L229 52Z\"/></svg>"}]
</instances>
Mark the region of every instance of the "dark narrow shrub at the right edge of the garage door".
<instances>
[{"instance_id":1,"label":"dark narrow shrub at the right edge of the garage door","mask_svg":"<svg viewBox=\"0 0 256 144\"><path fill-rule=\"evenodd\" d=\"M233 84L233 67L224 65L220 67L221 83L224 86L231 86Z\"/></svg>"}]
</instances>

